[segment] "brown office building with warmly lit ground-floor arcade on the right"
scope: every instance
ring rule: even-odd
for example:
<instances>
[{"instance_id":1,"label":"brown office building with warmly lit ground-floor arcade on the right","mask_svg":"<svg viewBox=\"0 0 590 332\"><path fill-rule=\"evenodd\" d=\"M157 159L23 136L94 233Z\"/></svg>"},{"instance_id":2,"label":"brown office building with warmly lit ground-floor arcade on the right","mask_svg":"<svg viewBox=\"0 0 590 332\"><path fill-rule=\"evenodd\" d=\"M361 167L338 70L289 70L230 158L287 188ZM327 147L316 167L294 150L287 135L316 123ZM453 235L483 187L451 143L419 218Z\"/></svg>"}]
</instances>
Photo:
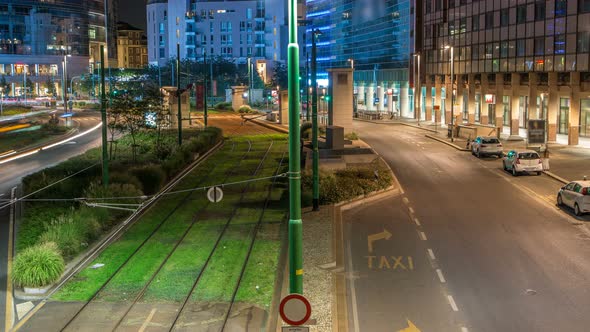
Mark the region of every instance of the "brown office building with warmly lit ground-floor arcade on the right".
<instances>
[{"instance_id":1,"label":"brown office building with warmly lit ground-floor arcade on the right","mask_svg":"<svg viewBox=\"0 0 590 332\"><path fill-rule=\"evenodd\" d=\"M590 0L423 0L423 14L417 117L514 137L546 120L549 142L590 137Z\"/></svg>"}]
</instances>

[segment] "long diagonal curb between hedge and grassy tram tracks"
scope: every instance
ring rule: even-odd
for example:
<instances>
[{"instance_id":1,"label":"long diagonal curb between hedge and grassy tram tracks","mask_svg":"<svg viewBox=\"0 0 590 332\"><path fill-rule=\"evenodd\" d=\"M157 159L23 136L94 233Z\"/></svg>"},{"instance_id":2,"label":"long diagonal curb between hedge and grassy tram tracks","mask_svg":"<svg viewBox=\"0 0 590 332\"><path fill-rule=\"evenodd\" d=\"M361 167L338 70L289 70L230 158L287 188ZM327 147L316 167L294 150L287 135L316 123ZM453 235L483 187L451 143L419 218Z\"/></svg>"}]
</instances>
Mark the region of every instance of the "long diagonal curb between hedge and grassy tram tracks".
<instances>
[{"instance_id":1,"label":"long diagonal curb between hedge and grassy tram tracks","mask_svg":"<svg viewBox=\"0 0 590 332\"><path fill-rule=\"evenodd\" d=\"M211 154L213 154L221 146L223 146L223 144L224 144L224 141L221 140L217 144L215 144L213 147L211 147L211 149L209 149L207 152L205 152L203 155L201 155L197 160L195 160L193 163L188 165L183 171L181 171L172 180L170 180L170 182L168 182L164 186L164 188L162 188L162 190L160 190L158 192L158 194L156 194L156 196L153 196L151 200L147 201L142 207L140 207L138 210L136 210L134 213L132 213L127 219L120 221L118 226L113 228L107 234L103 235L103 237L99 241L94 243L92 245L92 247L89 248L86 252L81 253L76 258L74 258L68 264L69 267L66 267L64 273L62 274L63 277L59 281L55 282L55 284L47 292L45 292L44 294L40 294L39 296L36 296L36 297L31 296L31 295L24 295L24 292L19 292L18 294L15 294L15 298L17 298L19 300L27 300L27 301L28 300L41 300L41 302L39 304L43 303L44 301L47 301L49 299L49 297L51 295L53 295L53 293L55 293L67 281L69 281L72 277L74 277L74 275L76 273L81 271L81 269L84 267L84 265L90 261L90 259L99 255L108 244L117 240L119 238L119 236L121 236L127 228L131 227L139 219L139 217L141 217L145 212L147 212L153 206L153 204L158 201L158 199L160 198L160 196L163 193L170 190L174 185L176 185L180 180L182 180L188 173L190 173L190 171L192 169L197 167L200 163L202 163L207 158L209 158L209 156ZM21 297L21 295L22 295L22 297ZM33 310L34 309L32 309L29 312L33 312ZM28 319L28 317L29 317L29 314L26 314L22 319L20 319L20 321L22 321L24 319Z\"/></svg>"}]
</instances>

